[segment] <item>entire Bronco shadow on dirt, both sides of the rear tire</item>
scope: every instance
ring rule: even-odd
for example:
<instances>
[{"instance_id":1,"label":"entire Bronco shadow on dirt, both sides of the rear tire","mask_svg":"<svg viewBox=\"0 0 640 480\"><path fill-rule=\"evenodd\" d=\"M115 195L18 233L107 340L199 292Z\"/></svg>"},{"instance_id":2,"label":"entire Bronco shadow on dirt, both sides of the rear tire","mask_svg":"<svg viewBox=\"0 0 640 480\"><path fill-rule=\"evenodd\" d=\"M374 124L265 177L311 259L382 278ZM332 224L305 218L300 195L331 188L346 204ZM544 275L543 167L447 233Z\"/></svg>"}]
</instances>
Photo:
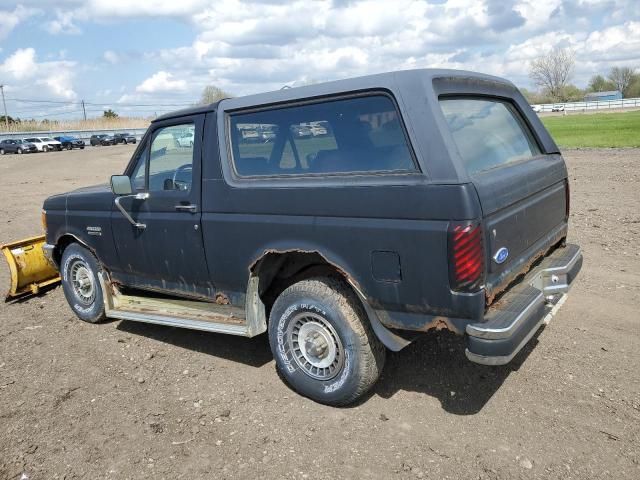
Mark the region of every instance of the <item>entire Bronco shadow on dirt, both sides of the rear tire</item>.
<instances>
[{"instance_id":1,"label":"entire Bronco shadow on dirt, both sides of the rear tire","mask_svg":"<svg viewBox=\"0 0 640 480\"><path fill-rule=\"evenodd\" d=\"M245 338L127 320L122 320L117 329L251 367L262 367L273 360L266 335ZM464 337L447 331L430 332L400 352L387 352L380 380L371 392L352 406L366 403L373 395L391 399L404 390L437 398L449 413L474 415L482 410L511 372L518 370L535 348L542 330L544 328L511 363L500 367L486 367L467 360Z\"/></svg>"}]
</instances>

